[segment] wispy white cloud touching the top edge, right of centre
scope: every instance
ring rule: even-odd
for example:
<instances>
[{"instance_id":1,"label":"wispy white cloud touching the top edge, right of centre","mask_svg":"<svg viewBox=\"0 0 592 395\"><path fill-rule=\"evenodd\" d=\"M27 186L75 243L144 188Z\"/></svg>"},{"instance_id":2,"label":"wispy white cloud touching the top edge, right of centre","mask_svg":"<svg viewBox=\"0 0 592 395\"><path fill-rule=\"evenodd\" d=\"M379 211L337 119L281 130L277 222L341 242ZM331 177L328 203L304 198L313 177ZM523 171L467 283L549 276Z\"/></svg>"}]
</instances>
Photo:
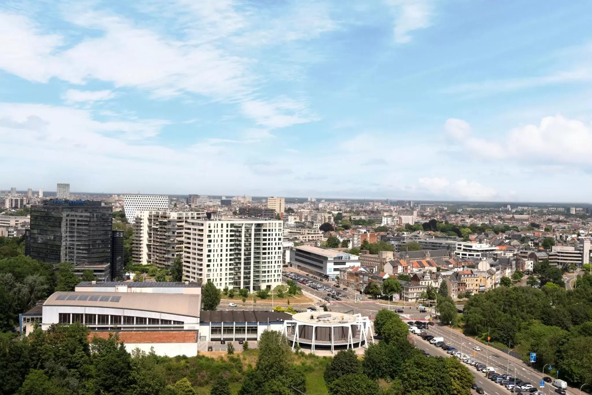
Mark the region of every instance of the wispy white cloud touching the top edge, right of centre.
<instances>
[{"instance_id":1,"label":"wispy white cloud touching the top edge, right of centre","mask_svg":"<svg viewBox=\"0 0 592 395\"><path fill-rule=\"evenodd\" d=\"M394 38L397 43L411 41L409 33L429 27L432 23L432 4L430 0L385 0L394 14Z\"/></svg>"}]
</instances>

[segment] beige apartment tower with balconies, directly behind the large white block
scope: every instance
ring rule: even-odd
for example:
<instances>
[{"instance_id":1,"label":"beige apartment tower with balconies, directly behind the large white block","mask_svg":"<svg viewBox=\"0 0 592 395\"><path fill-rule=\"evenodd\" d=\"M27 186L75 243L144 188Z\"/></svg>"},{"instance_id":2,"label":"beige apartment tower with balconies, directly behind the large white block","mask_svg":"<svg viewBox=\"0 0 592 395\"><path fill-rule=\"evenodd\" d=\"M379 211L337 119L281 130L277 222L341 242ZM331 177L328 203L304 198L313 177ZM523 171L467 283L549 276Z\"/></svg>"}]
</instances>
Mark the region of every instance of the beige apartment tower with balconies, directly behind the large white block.
<instances>
[{"instance_id":1,"label":"beige apartment tower with balconies, directly behind the large white block","mask_svg":"<svg viewBox=\"0 0 592 395\"><path fill-rule=\"evenodd\" d=\"M205 215L205 211L137 211L131 240L134 264L170 269L183 253L185 221Z\"/></svg>"}]
</instances>

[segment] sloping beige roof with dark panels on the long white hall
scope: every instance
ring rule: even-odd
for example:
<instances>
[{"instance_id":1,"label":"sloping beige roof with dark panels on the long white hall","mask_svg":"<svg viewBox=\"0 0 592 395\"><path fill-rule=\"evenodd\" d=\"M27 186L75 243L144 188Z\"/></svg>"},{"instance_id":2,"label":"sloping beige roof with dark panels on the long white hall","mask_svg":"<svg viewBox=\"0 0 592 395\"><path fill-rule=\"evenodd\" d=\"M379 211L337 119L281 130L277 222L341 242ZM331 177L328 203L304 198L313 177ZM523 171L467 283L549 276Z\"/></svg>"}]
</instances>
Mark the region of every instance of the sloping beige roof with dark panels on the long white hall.
<instances>
[{"instance_id":1,"label":"sloping beige roof with dark panels on the long white hall","mask_svg":"<svg viewBox=\"0 0 592 395\"><path fill-rule=\"evenodd\" d=\"M199 317L201 295L145 292L55 292L43 306L111 307Z\"/></svg>"}]
</instances>

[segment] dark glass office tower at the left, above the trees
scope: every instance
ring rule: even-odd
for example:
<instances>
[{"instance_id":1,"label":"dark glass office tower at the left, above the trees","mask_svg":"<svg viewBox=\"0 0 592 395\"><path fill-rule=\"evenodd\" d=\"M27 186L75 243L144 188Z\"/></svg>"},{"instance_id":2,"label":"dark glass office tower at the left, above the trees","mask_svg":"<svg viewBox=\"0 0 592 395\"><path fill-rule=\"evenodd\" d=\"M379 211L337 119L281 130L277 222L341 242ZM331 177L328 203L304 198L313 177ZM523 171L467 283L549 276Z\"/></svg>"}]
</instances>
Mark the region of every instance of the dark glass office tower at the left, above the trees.
<instances>
[{"instance_id":1,"label":"dark glass office tower at the left, above the trees","mask_svg":"<svg viewBox=\"0 0 592 395\"><path fill-rule=\"evenodd\" d=\"M111 262L112 207L100 201L46 200L31 206L30 256L72 264Z\"/></svg>"}]
</instances>

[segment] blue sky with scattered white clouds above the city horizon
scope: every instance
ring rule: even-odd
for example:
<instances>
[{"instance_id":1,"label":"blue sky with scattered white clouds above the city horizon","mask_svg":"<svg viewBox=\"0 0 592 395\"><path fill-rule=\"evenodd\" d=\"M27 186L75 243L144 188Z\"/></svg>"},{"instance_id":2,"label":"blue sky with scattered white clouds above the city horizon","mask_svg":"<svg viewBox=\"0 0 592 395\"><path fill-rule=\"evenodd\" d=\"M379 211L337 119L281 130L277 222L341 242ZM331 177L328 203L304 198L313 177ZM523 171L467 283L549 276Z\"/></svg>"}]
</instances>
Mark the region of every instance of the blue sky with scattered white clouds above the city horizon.
<instances>
[{"instance_id":1,"label":"blue sky with scattered white clouds above the city horizon","mask_svg":"<svg viewBox=\"0 0 592 395\"><path fill-rule=\"evenodd\" d=\"M592 201L592 2L0 2L0 189Z\"/></svg>"}]
</instances>

